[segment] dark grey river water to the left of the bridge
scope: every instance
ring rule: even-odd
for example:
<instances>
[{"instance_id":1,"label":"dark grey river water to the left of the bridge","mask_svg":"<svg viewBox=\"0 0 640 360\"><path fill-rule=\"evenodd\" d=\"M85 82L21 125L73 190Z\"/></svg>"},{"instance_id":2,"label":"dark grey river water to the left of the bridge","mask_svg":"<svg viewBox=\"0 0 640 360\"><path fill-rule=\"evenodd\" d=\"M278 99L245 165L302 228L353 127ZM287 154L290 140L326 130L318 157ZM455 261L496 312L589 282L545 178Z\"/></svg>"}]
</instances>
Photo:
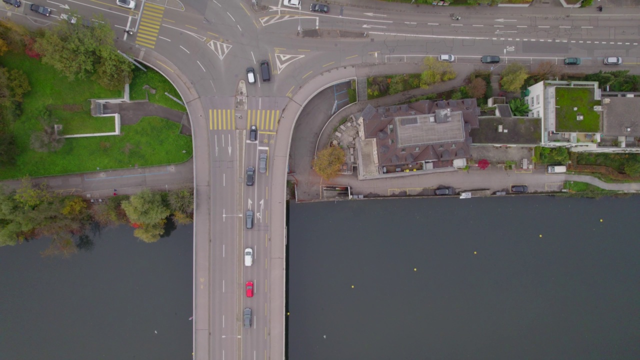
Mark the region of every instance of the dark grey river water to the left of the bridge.
<instances>
[{"instance_id":1,"label":"dark grey river water to the left of the bridge","mask_svg":"<svg viewBox=\"0 0 640 360\"><path fill-rule=\"evenodd\" d=\"M193 351L193 227L143 243L106 229L91 252L0 248L0 360L180 360Z\"/></svg>"}]
</instances>

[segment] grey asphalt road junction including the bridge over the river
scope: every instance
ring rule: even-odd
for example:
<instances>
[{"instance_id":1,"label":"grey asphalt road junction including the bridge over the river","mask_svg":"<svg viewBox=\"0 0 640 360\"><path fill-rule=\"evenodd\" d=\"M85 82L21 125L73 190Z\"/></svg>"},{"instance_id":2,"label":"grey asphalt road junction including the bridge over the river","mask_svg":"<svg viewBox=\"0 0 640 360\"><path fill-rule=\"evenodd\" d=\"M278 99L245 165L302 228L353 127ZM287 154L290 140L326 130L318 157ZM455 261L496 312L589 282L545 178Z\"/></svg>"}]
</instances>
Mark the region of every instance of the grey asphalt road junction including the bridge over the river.
<instances>
[{"instance_id":1,"label":"grey asphalt road junction including the bridge over the river","mask_svg":"<svg viewBox=\"0 0 640 360\"><path fill-rule=\"evenodd\" d=\"M102 13L116 45L163 72L187 104L194 140L196 189L194 247L195 359L284 358L285 181L289 144L305 104L345 79L419 69L424 56L456 55L456 67L499 71L518 61L536 65L582 58L584 72L601 69L604 56L622 56L616 70L636 70L637 8L456 8L380 3L379 9L332 5L331 12L282 6L282 0L140 1L135 10L91 0L42 1L42 17L7 8L13 19L49 26L62 13ZM70 10L67 10L69 8ZM461 20L452 20L455 11ZM28 12L28 13L26 13ZM15 15L14 15L15 14ZM28 18L24 16L28 15ZM133 29L129 35L124 29ZM340 32L339 32L339 31ZM340 37L342 36L342 37ZM481 65L484 54L503 57ZM259 75L268 60L271 81L258 76L239 94L246 68ZM256 125L258 142L247 142ZM244 184L248 166L268 154L268 172ZM244 214L256 212L246 229ZM258 216L259 215L259 216ZM244 248L255 261L244 266ZM253 281L255 296L244 296ZM243 309L251 308L251 329Z\"/></svg>"}]
</instances>

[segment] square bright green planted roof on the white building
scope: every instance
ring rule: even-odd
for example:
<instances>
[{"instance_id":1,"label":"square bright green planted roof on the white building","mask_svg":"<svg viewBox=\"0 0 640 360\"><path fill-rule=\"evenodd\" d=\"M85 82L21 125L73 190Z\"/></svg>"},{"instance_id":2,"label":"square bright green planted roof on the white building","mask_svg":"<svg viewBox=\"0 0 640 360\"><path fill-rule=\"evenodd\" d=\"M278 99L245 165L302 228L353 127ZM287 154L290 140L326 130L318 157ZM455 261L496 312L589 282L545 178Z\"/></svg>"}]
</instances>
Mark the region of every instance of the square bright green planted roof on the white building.
<instances>
[{"instance_id":1,"label":"square bright green planted roof on the white building","mask_svg":"<svg viewBox=\"0 0 640 360\"><path fill-rule=\"evenodd\" d=\"M593 111L593 106L600 105L600 101L593 96L593 88L556 87L556 132L599 133L600 113ZM584 120L577 120L578 115L583 115Z\"/></svg>"}]
</instances>

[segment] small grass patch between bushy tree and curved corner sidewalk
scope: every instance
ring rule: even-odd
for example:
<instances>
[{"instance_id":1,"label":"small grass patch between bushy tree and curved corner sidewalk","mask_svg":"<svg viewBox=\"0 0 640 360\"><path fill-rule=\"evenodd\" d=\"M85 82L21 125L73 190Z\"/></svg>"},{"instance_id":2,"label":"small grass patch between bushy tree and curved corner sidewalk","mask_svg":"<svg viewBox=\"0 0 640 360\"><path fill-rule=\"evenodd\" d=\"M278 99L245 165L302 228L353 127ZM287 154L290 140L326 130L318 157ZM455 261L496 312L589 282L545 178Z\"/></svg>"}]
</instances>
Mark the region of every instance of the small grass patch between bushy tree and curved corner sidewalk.
<instances>
[{"instance_id":1,"label":"small grass patch between bushy tree and curved corner sidewalk","mask_svg":"<svg viewBox=\"0 0 640 360\"><path fill-rule=\"evenodd\" d=\"M131 100L147 99L147 90L143 89L145 85L151 86L156 90L156 94L148 93L149 102L154 102L173 110L187 111L184 106L164 94L167 92L173 97L182 100L178 90L175 90L173 85L162 74L151 68L147 68L147 71L143 71L139 67L133 69L133 79L129 84L129 98Z\"/></svg>"}]
</instances>

